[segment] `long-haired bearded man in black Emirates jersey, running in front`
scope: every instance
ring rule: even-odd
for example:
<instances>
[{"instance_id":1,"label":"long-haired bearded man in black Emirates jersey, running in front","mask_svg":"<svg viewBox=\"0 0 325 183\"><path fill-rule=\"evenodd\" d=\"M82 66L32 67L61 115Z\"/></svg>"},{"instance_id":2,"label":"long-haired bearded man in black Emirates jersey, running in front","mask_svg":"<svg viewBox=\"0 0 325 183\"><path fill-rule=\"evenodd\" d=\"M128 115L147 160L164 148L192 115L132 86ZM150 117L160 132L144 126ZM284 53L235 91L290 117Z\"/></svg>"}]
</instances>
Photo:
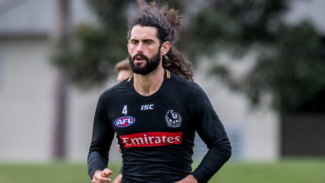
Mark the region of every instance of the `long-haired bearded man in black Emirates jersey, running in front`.
<instances>
[{"instance_id":1,"label":"long-haired bearded man in black Emirates jersey, running in front","mask_svg":"<svg viewBox=\"0 0 325 183\"><path fill-rule=\"evenodd\" d=\"M137 0L127 48L133 75L99 97L88 154L92 182L110 182L106 168L114 133L121 148L121 182L207 182L229 159L224 127L204 91L192 82L191 64L171 43L178 11ZM191 171L195 131L209 149Z\"/></svg>"}]
</instances>

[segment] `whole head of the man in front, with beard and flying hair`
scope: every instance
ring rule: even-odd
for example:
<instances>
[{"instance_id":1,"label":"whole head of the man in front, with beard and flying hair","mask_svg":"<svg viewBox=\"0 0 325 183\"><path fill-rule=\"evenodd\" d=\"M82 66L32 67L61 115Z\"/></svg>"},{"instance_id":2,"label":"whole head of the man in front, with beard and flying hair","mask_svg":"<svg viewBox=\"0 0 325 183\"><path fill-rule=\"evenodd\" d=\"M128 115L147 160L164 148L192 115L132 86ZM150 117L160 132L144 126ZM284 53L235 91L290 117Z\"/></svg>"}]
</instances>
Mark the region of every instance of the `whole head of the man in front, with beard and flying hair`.
<instances>
[{"instance_id":1,"label":"whole head of the man in front, with beard and flying hair","mask_svg":"<svg viewBox=\"0 0 325 183\"><path fill-rule=\"evenodd\" d=\"M160 9L152 1L137 0L138 14L128 23L129 63L134 73L147 74L162 66L193 80L192 65L172 47L178 38L178 10L167 5Z\"/></svg>"}]
</instances>

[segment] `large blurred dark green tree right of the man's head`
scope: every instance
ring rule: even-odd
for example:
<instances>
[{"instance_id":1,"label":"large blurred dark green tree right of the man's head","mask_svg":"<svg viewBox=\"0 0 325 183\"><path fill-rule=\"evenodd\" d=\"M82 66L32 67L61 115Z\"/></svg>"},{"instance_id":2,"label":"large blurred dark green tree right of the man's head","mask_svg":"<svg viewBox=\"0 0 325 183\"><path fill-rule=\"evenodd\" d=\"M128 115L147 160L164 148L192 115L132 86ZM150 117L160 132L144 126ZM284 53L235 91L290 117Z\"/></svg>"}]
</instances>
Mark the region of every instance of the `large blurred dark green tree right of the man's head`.
<instances>
[{"instance_id":1,"label":"large blurred dark green tree right of the man's head","mask_svg":"<svg viewBox=\"0 0 325 183\"><path fill-rule=\"evenodd\" d=\"M253 50L252 68L236 77L229 66L212 61L213 74L231 88L244 91L253 105L264 93L280 114L325 111L324 40L308 22L284 23L290 0L210 0L187 30L195 60L219 51L240 58ZM190 44L187 44L190 45ZM196 47L197 46L197 47ZM199 50L199 51L195 51ZM253 58L252 58L253 59Z\"/></svg>"}]
</instances>

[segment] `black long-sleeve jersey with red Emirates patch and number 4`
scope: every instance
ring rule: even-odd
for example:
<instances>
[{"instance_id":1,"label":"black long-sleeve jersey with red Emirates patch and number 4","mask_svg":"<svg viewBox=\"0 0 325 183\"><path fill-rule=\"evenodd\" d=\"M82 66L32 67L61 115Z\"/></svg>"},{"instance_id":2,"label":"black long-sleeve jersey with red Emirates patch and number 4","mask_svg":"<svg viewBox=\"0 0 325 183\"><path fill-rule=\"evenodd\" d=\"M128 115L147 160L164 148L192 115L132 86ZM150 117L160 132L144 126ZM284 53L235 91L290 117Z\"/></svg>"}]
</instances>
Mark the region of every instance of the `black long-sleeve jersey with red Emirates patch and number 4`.
<instances>
[{"instance_id":1,"label":"black long-sleeve jersey with red Emirates patch and number 4","mask_svg":"<svg viewBox=\"0 0 325 183\"><path fill-rule=\"evenodd\" d=\"M209 149L191 171L195 131ZM107 167L116 132L121 148L122 182L175 182L192 174L207 182L229 159L224 127L204 91L165 70L160 88L142 96L132 76L99 97L87 159L88 173Z\"/></svg>"}]
</instances>

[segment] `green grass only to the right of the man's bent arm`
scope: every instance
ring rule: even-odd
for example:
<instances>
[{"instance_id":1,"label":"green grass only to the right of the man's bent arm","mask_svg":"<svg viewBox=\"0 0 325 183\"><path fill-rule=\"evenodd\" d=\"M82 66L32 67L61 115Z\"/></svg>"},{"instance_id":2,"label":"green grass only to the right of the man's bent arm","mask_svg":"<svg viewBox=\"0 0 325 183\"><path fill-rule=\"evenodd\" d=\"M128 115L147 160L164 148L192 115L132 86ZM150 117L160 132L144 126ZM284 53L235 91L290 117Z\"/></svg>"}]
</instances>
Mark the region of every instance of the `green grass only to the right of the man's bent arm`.
<instances>
[{"instance_id":1,"label":"green grass only to the right of the man's bent arm","mask_svg":"<svg viewBox=\"0 0 325 183\"><path fill-rule=\"evenodd\" d=\"M325 159L274 163L229 162L209 182L325 182Z\"/></svg>"}]
</instances>

